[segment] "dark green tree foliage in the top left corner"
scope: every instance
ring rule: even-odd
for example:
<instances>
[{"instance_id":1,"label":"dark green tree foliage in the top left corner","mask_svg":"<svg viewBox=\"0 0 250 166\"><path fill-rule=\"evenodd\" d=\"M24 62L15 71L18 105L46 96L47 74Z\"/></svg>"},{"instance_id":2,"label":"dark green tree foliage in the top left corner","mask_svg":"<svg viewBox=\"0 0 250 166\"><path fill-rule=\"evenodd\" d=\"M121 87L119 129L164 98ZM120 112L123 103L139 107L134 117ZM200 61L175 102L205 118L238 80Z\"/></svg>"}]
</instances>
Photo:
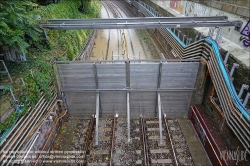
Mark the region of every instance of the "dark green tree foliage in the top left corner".
<instances>
[{"instance_id":1,"label":"dark green tree foliage in the top left corner","mask_svg":"<svg viewBox=\"0 0 250 166\"><path fill-rule=\"evenodd\" d=\"M36 6L30 1L0 0L0 45L26 52L40 39L38 21L28 14Z\"/></svg>"}]
</instances>

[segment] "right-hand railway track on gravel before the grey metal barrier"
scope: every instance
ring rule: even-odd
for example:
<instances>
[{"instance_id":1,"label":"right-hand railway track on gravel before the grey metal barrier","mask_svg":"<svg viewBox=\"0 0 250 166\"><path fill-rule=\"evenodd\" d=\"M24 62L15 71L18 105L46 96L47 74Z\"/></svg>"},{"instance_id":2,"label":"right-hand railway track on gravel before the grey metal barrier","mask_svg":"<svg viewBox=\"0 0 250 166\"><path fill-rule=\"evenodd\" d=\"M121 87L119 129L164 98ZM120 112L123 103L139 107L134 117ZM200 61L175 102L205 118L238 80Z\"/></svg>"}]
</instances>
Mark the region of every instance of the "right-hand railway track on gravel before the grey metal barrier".
<instances>
[{"instance_id":1,"label":"right-hand railway track on gravel before the grey metal barrier","mask_svg":"<svg viewBox=\"0 0 250 166\"><path fill-rule=\"evenodd\" d=\"M144 165L194 165L178 121L164 117L163 144L159 143L159 121L140 118ZM165 130L164 130L165 128Z\"/></svg>"}]
</instances>

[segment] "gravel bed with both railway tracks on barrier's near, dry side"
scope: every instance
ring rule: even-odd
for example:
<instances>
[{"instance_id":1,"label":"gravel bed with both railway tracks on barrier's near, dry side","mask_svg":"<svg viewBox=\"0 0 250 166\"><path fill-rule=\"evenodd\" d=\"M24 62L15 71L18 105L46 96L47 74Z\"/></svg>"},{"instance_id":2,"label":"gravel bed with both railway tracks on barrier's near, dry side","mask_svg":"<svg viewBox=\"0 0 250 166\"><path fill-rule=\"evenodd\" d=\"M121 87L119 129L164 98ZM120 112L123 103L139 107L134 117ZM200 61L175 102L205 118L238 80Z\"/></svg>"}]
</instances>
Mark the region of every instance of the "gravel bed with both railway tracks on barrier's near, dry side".
<instances>
[{"instance_id":1,"label":"gravel bed with both railway tracks on barrier's near, dry side","mask_svg":"<svg viewBox=\"0 0 250 166\"><path fill-rule=\"evenodd\" d=\"M83 151L82 165L88 166L194 165L177 120L163 117L163 145L159 144L157 118L131 119L130 142L126 122L123 116L101 118L96 145L95 118L84 119L77 125L77 139L69 150Z\"/></svg>"}]
</instances>

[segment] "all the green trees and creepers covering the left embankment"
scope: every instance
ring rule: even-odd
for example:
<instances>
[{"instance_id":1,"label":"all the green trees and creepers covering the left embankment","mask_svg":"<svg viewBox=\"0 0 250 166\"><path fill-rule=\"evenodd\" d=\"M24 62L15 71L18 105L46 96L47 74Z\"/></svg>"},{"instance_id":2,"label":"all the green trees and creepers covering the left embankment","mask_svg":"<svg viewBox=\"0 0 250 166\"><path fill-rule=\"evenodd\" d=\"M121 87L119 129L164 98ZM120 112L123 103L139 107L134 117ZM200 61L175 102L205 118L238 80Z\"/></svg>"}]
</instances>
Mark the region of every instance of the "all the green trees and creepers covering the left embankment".
<instances>
[{"instance_id":1,"label":"all the green trees and creepers covering the left embankment","mask_svg":"<svg viewBox=\"0 0 250 166\"><path fill-rule=\"evenodd\" d=\"M47 6L38 6L28 1L12 0L5 3L0 0L0 9L5 8L0 12L0 45L21 49L26 52L27 58L27 61L22 63L6 63L14 81L7 89L12 88L19 104L24 105L24 111L11 113L7 120L1 123L0 131L4 131L16 118L26 114L29 107L34 108L42 95L45 95L48 101L51 99L51 94L56 91L53 61L74 59L91 32L48 30L46 31L48 41L44 41L41 40L42 30L38 28L38 22L34 21L34 18L40 15L41 21L45 22L47 19L99 17L101 9L99 1L84 1L84 13L79 11L81 5L80 0L64 0ZM8 18L10 20L6 21L7 17L10 17ZM0 78L0 82L4 79ZM4 90L2 94L8 94L6 91Z\"/></svg>"}]
</instances>

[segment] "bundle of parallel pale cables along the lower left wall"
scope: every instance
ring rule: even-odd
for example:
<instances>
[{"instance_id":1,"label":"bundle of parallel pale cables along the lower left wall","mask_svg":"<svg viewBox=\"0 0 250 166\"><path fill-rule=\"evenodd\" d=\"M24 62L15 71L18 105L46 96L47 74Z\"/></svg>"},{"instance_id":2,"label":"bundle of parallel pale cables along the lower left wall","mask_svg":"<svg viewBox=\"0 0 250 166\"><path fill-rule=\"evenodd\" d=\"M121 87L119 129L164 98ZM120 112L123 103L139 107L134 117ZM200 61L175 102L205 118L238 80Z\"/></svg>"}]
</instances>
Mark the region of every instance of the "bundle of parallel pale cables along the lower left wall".
<instances>
[{"instance_id":1,"label":"bundle of parallel pale cables along the lower left wall","mask_svg":"<svg viewBox=\"0 0 250 166\"><path fill-rule=\"evenodd\" d=\"M29 113L19 119L17 124L13 127L12 132L6 136L6 139L1 142L1 165L14 165L13 162L16 159L16 156L26 139L29 135L32 134L34 127L38 124L38 121L42 117L50 112L48 110L56 101L56 94L53 94L52 100L46 102L45 97L43 96L37 103L35 109L29 109Z\"/></svg>"}]
</instances>

